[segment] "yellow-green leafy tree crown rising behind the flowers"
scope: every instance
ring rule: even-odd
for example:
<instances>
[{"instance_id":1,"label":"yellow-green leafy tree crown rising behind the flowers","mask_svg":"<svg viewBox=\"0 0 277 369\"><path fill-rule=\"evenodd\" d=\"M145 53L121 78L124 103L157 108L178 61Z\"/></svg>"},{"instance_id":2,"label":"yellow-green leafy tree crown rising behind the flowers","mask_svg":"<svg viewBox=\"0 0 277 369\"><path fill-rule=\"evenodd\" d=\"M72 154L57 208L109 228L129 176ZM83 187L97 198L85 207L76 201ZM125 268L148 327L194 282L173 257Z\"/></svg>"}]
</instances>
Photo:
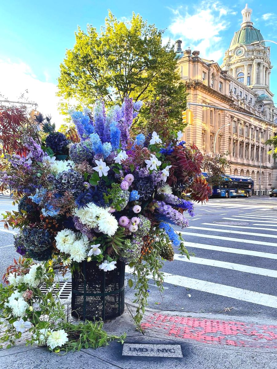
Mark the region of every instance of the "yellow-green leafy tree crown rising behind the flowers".
<instances>
[{"instance_id":1,"label":"yellow-green leafy tree crown rising behind the flowers","mask_svg":"<svg viewBox=\"0 0 277 369\"><path fill-rule=\"evenodd\" d=\"M76 43L60 65L58 95L65 101L75 97L91 106L111 89L122 102L128 94L134 101L146 103L141 111L144 123L149 120L151 106L167 96L168 115L180 123L185 86L176 68L174 48L170 42L162 44L163 32L138 14L124 23L111 12L99 33L92 25L87 32L78 28ZM62 105L63 111L67 108L66 103Z\"/></svg>"}]
</instances>

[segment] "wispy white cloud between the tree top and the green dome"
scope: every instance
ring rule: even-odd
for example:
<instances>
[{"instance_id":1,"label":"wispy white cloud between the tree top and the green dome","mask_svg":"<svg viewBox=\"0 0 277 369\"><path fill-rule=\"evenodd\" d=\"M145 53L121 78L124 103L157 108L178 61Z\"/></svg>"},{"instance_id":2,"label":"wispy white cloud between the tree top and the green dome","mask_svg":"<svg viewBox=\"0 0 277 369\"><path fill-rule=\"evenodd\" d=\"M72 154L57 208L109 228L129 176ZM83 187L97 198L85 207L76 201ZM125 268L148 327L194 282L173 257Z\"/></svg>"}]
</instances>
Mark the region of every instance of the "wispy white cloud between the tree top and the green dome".
<instances>
[{"instance_id":1,"label":"wispy white cloud between the tree top and the green dome","mask_svg":"<svg viewBox=\"0 0 277 369\"><path fill-rule=\"evenodd\" d=\"M174 17L168 27L173 39L182 39L182 48L199 50L202 58L219 61L225 48L221 44L221 32L229 27L227 17L235 12L223 6L219 1L202 1L192 10L179 7L172 10Z\"/></svg>"}]
</instances>

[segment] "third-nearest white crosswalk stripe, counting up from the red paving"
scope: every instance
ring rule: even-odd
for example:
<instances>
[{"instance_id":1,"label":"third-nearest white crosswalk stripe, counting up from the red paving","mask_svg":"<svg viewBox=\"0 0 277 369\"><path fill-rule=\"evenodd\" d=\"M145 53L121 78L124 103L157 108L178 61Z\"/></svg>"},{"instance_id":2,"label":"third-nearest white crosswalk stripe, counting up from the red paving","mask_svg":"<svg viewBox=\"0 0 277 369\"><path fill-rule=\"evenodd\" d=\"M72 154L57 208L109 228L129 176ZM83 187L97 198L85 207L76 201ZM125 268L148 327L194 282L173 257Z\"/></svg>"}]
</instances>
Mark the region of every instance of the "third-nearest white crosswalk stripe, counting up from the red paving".
<instances>
[{"instance_id":1,"label":"third-nearest white crosswalk stripe, counting up from the red paving","mask_svg":"<svg viewBox=\"0 0 277 369\"><path fill-rule=\"evenodd\" d=\"M193 247L193 248L197 248L197 249L212 250L212 251L219 251L219 252L229 252L231 254L257 256L259 258L277 260L277 254L272 254L271 252L261 252L261 251L252 251L252 250L244 250L244 249L235 249L235 248L232 248L232 247L198 244L196 242L187 242L187 241L185 241L185 246L186 247Z\"/></svg>"}]
</instances>

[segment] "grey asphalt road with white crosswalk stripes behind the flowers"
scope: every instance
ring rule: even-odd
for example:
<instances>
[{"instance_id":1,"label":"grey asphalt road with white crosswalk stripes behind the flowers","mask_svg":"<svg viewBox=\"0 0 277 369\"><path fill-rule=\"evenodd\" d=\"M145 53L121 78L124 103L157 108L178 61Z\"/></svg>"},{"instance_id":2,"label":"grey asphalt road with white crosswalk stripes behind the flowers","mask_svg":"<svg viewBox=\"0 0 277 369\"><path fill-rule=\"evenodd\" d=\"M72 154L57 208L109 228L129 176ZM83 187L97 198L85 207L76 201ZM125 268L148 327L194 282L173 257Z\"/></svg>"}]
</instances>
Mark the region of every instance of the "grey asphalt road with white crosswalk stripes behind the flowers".
<instances>
[{"instance_id":1,"label":"grey asphalt road with white crosswalk stripes behind the flowers","mask_svg":"<svg viewBox=\"0 0 277 369\"><path fill-rule=\"evenodd\" d=\"M0 214L11 202L0 197ZM188 228L177 229L194 256L188 261L175 248L176 259L163 268L162 295L150 280L149 307L277 318L277 199L211 199L195 204L195 213ZM1 275L18 258L12 244L13 231L0 223ZM127 287L126 298L133 292Z\"/></svg>"}]
</instances>

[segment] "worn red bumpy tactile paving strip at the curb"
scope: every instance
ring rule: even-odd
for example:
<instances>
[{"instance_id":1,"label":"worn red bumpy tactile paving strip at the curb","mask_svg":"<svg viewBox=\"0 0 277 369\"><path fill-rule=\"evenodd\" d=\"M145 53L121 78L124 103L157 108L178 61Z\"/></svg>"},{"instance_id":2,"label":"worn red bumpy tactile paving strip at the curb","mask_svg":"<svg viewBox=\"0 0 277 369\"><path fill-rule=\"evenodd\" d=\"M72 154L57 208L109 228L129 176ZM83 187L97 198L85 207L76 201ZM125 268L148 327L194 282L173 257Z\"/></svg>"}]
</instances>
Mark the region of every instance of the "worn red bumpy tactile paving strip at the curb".
<instances>
[{"instance_id":1,"label":"worn red bumpy tactile paving strip at the curb","mask_svg":"<svg viewBox=\"0 0 277 369\"><path fill-rule=\"evenodd\" d=\"M186 318L158 313L146 315L141 325L143 329L159 331L169 337L205 344L277 348L277 325Z\"/></svg>"}]
</instances>

